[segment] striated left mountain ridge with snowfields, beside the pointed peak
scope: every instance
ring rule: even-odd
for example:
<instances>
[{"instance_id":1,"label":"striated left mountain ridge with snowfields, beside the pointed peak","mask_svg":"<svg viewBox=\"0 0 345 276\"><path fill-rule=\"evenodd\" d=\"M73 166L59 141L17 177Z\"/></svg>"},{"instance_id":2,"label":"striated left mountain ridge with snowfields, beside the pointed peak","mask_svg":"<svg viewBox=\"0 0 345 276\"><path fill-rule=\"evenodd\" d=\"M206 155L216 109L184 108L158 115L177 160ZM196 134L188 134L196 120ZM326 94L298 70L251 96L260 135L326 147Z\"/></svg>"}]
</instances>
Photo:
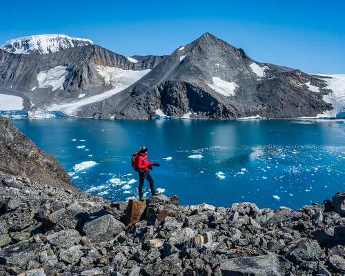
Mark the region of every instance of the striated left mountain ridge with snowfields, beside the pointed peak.
<instances>
[{"instance_id":1,"label":"striated left mountain ridge with snowfields, beside the pointed peak","mask_svg":"<svg viewBox=\"0 0 345 276\"><path fill-rule=\"evenodd\" d=\"M15 55L0 49L0 94L26 99L25 109L77 115L79 106L124 90L165 57L136 58L97 45L48 55Z\"/></svg>"}]
</instances>

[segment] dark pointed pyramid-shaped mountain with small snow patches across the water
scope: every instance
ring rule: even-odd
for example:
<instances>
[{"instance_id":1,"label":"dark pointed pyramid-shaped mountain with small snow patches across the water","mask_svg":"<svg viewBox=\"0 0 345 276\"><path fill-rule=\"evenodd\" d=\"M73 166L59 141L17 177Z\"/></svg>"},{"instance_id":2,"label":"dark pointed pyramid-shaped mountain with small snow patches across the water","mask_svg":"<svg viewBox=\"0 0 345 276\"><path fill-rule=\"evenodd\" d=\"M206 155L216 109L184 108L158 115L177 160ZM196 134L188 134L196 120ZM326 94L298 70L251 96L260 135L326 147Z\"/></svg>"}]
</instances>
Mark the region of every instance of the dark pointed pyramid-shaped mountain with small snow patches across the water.
<instances>
[{"instance_id":1,"label":"dark pointed pyramid-shaped mountain with small snow patches across the water","mask_svg":"<svg viewBox=\"0 0 345 276\"><path fill-rule=\"evenodd\" d=\"M117 95L83 108L99 119L316 117L333 110L328 77L259 63L212 34L181 46Z\"/></svg>"}]
</instances>

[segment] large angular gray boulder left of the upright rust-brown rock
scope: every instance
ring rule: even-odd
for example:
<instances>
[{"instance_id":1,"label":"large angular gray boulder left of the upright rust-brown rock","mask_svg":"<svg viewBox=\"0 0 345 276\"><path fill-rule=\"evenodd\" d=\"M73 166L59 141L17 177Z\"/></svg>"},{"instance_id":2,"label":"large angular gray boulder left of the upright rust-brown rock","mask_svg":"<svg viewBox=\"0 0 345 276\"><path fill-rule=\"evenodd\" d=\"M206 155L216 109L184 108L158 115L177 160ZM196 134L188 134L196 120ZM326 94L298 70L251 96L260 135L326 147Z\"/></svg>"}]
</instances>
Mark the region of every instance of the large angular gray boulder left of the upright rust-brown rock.
<instances>
[{"instance_id":1,"label":"large angular gray boulder left of the upright rust-brown rock","mask_svg":"<svg viewBox=\"0 0 345 276\"><path fill-rule=\"evenodd\" d=\"M126 226L106 210L92 213L83 226L91 242L108 242Z\"/></svg>"}]
</instances>

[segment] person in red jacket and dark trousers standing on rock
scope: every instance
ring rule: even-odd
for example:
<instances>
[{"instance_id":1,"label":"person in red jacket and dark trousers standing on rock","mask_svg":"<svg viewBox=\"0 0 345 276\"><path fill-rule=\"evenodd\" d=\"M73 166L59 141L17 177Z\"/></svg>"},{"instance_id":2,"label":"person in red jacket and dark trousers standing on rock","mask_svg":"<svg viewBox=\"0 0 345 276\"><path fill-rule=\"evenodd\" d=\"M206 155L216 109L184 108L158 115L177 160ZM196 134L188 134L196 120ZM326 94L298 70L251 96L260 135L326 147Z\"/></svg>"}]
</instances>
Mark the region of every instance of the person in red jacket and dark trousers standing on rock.
<instances>
[{"instance_id":1,"label":"person in red jacket and dark trousers standing on rock","mask_svg":"<svg viewBox=\"0 0 345 276\"><path fill-rule=\"evenodd\" d=\"M140 151L138 152L137 168L139 170L139 199L140 200L144 200L143 186L144 186L145 179L148 179L148 182L150 183L150 190L151 190L152 196L159 195L159 193L156 193L155 191L155 186L153 185L153 179L149 172L149 170L152 170L152 166L159 167L159 164L149 162L147 153L148 153L148 148L146 147L141 147Z\"/></svg>"}]
</instances>

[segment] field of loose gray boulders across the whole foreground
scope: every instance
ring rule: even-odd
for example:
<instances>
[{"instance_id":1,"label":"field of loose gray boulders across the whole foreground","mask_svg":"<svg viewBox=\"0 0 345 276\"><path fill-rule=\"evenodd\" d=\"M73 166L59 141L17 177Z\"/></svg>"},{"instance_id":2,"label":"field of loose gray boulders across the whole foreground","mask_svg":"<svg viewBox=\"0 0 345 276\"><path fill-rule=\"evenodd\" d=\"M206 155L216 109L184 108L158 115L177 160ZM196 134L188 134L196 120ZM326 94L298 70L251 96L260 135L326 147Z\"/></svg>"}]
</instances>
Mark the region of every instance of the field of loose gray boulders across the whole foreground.
<instances>
[{"instance_id":1,"label":"field of loose gray boulders across the whole foreground","mask_svg":"<svg viewBox=\"0 0 345 276\"><path fill-rule=\"evenodd\" d=\"M344 200L127 204L0 172L0 275L343 275Z\"/></svg>"}]
</instances>

